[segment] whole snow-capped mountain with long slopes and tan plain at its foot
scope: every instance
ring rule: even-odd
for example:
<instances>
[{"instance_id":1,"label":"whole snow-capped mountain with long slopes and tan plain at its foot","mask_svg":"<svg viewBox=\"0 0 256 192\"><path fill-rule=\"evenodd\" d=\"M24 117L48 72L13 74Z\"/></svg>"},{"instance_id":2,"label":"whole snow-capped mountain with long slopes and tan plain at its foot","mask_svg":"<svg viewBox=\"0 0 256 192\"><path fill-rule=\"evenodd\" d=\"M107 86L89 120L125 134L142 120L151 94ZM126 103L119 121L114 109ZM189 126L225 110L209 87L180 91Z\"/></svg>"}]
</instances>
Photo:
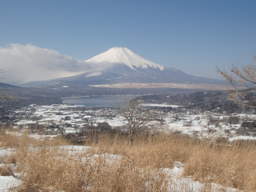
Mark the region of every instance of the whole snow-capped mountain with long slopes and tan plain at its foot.
<instances>
[{"instance_id":1,"label":"whole snow-capped mountain with long slopes and tan plain at its foot","mask_svg":"<svg viewBox=\"0 0 256 192\"><path fill-rule=\"evenodd\" d=\"M111 48L104 53L84 61L84 63L91 66L90 70L82 71L79 75L48 81L29 82L24 83L22 86L50 86L58 88L60 86L70 87L70 84L72 84L72 87L75 85L83 85L98 88L152 88L152 84L154 84L153 88L193 89L192 85L194 84L194 87L197 87L199 90L207 90L209 88L205 88L206 84L216 85L215 88L212 85L211 89L219 89L218 87L220 87L220 85L226 85L226 81L223 80L196 77L188 75L179 69L164 67L140 57L124 47ZM143 86L141 87L140 85L142 84ZM176 86L174 86L174 84L176 84ZM204 88L200 88L200 85L195 86L195 84L203 84ZM131 85L133 86L131 87ZM147 87L147 85L151 86ZM222 87L221 90L225 88L226 86Z\"/></svg>"}]
</instances>

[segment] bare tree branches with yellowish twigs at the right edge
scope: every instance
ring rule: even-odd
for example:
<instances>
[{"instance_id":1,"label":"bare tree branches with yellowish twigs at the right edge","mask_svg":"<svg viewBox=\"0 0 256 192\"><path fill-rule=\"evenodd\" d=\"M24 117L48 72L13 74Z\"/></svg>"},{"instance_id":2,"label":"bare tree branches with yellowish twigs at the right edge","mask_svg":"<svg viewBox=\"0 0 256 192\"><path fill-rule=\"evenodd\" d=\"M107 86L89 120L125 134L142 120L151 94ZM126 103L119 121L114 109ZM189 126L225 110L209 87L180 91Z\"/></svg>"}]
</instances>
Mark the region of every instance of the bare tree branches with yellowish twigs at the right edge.
<instances>
[{"instance_id":1,"label":"bare tree branches with yellowish twigs at the right edge","mask_svg":"<svg viewBox=\"0 0 256 192\"><path fill-rule=\"evenodd\" d=\"M256 57L254 57L256 61ZM256 108L256 67L252 64L232 67L229 71L221 70L217 67L217 72L232 85L234 90L227 87L229 98L240 105ZM244 89L242 89L244 88Z\"/></svg>"}]
</instances>

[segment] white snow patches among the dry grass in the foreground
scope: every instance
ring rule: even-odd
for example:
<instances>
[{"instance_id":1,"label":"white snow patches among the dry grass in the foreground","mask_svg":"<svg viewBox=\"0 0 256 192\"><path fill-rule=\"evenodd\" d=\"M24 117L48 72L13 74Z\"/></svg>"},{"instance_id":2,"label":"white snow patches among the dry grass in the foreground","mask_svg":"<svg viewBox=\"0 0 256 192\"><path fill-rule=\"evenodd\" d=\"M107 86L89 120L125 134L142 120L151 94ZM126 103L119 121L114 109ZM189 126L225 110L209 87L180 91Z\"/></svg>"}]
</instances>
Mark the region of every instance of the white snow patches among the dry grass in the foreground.
<instances>
[{"instance_id":1,"label":"white snow patches among the dry grass in the foreground","mask_svg":"<svg viewBox=\"0 0 256 192\"><path fill-rule=\"evenodd\" d=\"M33 148L29 147L32 150L38 150L40 148ZM54 148L54 147L51 147ZM88 147L88 146L59 146L59 150L62 150L64 152L68 152L68 154L74 156L74 155L79 155L79 154L85 154L83 161L85 162L88 158L90 159L95 159L98 157L104 158L105 162L109 166L114 166L117 165L120 160L125 158L124 156L121 155L115 155L115 154L87 154L88 149L93 149L93 147ZM95 148L95 151L98 148ZM14 153L15 150L13 149L0 149L0 154L6 154L6 153ZM76 156L74 156L76 157ZM0 167L4 166L4 164L0 164ZM15 171L15 164L12 164L11 166L14 167ZM168 192L172 191L191 191L191 192L200 192L204 191L204 187L211 187L212 192L218 192L218 191L226 191L226 192L239 192L238 189L236 188L231 188L231 187L224 187L221 186L220 184L216 183L200 183L199 181L194 181L192 177L183 177L182 173L184 171L184 164L180 162L175 162L174 163L174 168L161 168L158 170L159 173L163 173L165 175L165 178L167 179L168 183ZM156 170L157 171L157 170ZM18 186L21 184L21 179L18 177L18 173L15 173L14 176L0 176L0 192L5 192L11 187Z\"/></svg>"}]
</instances>

